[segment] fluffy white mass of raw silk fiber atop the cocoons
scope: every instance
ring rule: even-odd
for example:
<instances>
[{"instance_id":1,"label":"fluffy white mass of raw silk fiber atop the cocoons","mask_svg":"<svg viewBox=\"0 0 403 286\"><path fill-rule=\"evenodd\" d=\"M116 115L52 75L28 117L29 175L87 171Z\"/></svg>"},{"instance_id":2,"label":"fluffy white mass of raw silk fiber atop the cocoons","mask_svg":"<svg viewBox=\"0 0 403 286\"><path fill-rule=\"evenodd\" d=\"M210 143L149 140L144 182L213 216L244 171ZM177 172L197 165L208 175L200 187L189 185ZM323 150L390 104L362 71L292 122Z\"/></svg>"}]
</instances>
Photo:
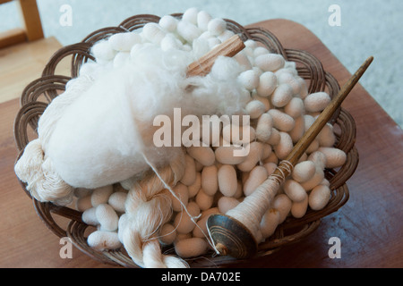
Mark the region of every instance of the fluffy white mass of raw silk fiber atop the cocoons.
<instances>
[{"instance_id":1,"label":"fluffy white mass of raw silk fiber atop the cocoons","mask_svg":"<svg viewBox=\"0 0 403 286\"><path fill-rule=\"evenodd\" d=\"M60 99L56 97L55 108L52 102L41 117L39 140L44 156L64 185L95 189L127 180L150 169L142 154L157 167L167 165L181 150L155 147L157 115L165 114L173 122L174 108L181 108L182 116L237 114L250 99L236 80L241 67L235 59L220 57L213 67L220 71L230 66L233 72L186 78L187 66L196 60L193 51L163 51L150 43L137 44L133 50L126 63L117 67L84 63L82 67L89 65L91 72L71 80ZM21 161L29 161L23 156ZM25 176L20 172L19 177L43 180L41 172ZM60 196L66 196L65 191Z\"/></svg>"}]
</instances>

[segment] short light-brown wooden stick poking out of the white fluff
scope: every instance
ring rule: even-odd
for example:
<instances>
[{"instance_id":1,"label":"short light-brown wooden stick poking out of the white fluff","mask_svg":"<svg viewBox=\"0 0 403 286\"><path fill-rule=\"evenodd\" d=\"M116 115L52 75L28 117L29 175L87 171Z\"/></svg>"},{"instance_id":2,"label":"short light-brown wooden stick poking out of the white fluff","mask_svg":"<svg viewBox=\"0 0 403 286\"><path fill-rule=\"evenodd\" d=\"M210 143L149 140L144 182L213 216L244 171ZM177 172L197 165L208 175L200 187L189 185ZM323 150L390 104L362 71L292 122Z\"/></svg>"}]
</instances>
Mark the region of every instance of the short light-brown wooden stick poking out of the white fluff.
<instances>
[{"instance_id":1,"label":"short light-brown wooden stick poking out of the white fluff","mask_svg":"<svg viewBox=\"0 0 403 286\"><path fill-rule=\"evenodd\" d=\"M219 46L213 48L206 55L203 55L198 61L189 64L186 75L187 77L205 76L211 71L211 67L220 55L231 57L238 54L243 49L244 42L239 36L234 35Z\"/></svg>"}]
</instances>

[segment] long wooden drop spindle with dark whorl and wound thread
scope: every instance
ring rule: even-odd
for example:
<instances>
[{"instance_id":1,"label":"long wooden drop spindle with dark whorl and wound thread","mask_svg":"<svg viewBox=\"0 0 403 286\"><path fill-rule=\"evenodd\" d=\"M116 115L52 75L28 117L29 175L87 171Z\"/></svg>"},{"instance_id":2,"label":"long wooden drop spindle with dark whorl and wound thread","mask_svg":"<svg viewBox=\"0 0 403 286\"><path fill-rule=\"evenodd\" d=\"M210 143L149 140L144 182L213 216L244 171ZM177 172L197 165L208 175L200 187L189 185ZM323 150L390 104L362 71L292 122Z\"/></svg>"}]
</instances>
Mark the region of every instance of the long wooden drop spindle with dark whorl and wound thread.
<instances>
[{"instance_id":1,"label":"long wooden drop spindle with dark whorl and wound thread","mask_svg":"<svg viewBox=\"0 0 403 286\"><path fill-rule=\"evenodd\" d=\"M329 122L331 116L336 112L372 62L373 56L369 57L351 79L347 81L346 85L339 91L337 97L333 98L330 105L322 111L318 119L304 133L303 138L296 143L296 146L287 158L280 162L276 171L252 195L245 198L244 202L232 209L228 215L210 215L207 221L210 237L221 255L229 255L236 258L246 258L255 255L258 246L253 236L253 230L259 229L262 215L270 207L272 198L278 192L279 185L286 180L300 156L311 145L313 139L316 138L323 126ZM259 207L255 208L255 206ZM253 214L251 217L257 218L257 221L250 221L248 217L244 217L247 214Z\"/></svg>"}]
</instances>

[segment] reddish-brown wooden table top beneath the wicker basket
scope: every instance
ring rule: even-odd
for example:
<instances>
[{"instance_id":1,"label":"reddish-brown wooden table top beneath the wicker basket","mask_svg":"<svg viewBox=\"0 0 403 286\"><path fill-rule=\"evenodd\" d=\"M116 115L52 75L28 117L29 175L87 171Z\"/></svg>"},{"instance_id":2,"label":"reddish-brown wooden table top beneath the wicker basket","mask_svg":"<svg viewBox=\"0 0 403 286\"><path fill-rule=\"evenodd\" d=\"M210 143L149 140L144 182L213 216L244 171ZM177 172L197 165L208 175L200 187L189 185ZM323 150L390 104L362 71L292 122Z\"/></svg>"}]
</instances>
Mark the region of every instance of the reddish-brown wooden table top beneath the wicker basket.
<instances>
[{"instance_id":1,"label":"reddish-brown wooden table top beneath the wicker basket","mask_svg":"<svg viewBox=\"0 0 403 286\"><path fill-rule=\"evenodd\" d=\"M251 26L269 29L286 48L315 55L340 86L347 69L312 32L293 21L270 20ZM369 55L363 55L363 62ZM358 67L357 67L358 68ZM376 58L371 69L376 69ZM38 74L38 77L40 74ZM25 86L21 86L21 91ZM318 230L269 257L236 267L402 267L403 131L360 85L342 105L356 121L360 163L347 186L350 198L322 219ZM0 267L111 267L64 246L42 223L13 172L17 155L13 120L18 99L0 104ZM339 238L341 257L329 257L329 240Z\"/></svg>"}]
</instances>

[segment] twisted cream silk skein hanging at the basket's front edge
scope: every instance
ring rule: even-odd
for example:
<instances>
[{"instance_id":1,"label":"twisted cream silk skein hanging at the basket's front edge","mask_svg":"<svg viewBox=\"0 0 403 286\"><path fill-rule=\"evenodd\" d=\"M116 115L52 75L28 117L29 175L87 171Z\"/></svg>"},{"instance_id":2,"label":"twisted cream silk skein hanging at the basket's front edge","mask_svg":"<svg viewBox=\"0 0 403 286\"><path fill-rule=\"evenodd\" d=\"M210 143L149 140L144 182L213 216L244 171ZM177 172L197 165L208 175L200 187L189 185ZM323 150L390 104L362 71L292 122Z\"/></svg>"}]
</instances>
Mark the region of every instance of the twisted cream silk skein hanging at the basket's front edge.
<instances>
[{"instance_id":1,"label":"twisted cream silk skein hanging at the basket's front edge","mask_svg":"<svg viewBox=\"0 0 403 286\"><path fill-rule=\"evenodd\" d=\"M124 248L134 263L145 268L178 268L187 264L178 257L161 253L159 227L172 215L171 199L164 194L165 182L175 185L184 174L184 153L158 171L133 184L125 202L126 223L122 231Z\"/></svg>"}]
</instances>

